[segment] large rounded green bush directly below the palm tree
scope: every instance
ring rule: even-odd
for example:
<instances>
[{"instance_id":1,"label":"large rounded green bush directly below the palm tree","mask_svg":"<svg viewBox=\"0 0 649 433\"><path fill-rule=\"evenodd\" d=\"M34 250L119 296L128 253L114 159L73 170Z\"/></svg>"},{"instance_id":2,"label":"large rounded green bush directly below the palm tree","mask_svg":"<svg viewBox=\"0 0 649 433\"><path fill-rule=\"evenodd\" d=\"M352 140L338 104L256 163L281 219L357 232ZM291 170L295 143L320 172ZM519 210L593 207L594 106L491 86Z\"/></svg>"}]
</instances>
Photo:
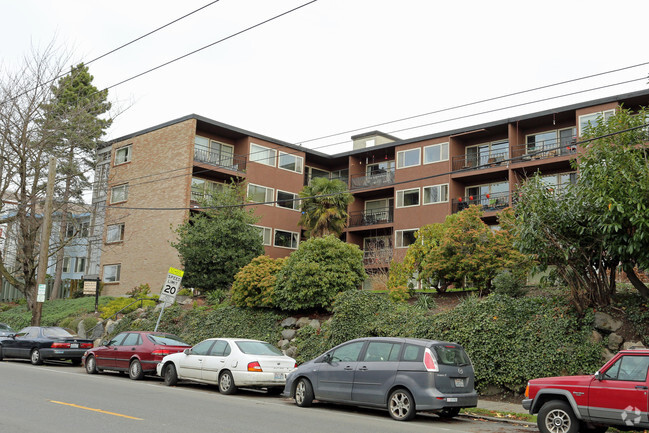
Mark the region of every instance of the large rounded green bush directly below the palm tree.
<instances>
[{"instance_id":1,"label":"large rounded green bush directly below the palm tree","mask_svg":"<svg viewBox=\"0 0 649 433\"><path fill-rule=\"evenodd\" d=\"M363 252L330 235L302 242L277 274L273 303L283 310L329 309L336 294L367 277Z\"/></svg>"}]
</instances>

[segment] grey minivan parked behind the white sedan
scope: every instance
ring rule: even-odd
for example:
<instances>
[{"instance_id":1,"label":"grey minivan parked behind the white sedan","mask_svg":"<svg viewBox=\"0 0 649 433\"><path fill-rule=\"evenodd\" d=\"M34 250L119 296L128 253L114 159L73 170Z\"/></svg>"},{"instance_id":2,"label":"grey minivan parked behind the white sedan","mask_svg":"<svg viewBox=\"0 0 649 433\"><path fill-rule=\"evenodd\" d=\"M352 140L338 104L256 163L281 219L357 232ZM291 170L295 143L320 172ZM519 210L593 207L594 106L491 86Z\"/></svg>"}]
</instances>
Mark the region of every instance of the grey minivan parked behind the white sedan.
<instances>
[{"instance_id":1,"label":"grey minivan parked behind the white sedan","mask_svg":"<svg viewBox=\"0 0 649 433\"><path fill-rule=\"evenodd\" d=\"M313 400L388 409L398 421L416 411L456 416L475 407L471 360L456 343L411 338L360 338L300 365L284 396L300 407Z\"/></svg>"}]
</instances>

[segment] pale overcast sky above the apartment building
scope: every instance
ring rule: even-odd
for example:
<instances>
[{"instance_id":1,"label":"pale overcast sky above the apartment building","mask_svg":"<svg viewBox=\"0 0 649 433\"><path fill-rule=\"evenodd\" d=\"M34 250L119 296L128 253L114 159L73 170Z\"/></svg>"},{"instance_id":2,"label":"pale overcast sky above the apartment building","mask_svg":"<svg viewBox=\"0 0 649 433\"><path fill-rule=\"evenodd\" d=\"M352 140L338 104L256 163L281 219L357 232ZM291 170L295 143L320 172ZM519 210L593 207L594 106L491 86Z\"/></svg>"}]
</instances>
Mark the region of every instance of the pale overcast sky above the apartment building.
<instances>
[{"instance_id":1,"label":"pale overcast sky above the apartment building","mask_svg":"<svg viewBox=\"0 0 649 433\"><path fill-rule=\"evenodd\" d=\"M195 113L338 153L365 131L406 139L648 88L646 64L472 104L648 63L646 0L318 0L111 87L308 1L220 0L92 62L118 113L104 138ZM88 62L210 2L0 0L0 73L52 41Z\"/></svg>"}]
</instances>

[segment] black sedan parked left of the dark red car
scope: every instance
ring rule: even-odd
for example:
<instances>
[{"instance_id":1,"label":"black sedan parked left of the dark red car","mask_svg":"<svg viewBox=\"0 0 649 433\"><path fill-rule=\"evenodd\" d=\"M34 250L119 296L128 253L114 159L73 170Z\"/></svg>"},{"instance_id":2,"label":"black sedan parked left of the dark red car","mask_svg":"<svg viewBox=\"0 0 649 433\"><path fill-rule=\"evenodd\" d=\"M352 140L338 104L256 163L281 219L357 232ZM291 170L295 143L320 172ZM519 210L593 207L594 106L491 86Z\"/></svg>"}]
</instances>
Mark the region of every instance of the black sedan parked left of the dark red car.
<instances>
[{"instance_id":1,"label":"black sedan parked left of the dark red car","mask_svg":"<svg viewBox=\"0 0 649 433\"><path fill-rule=\"evenodd\" d=\"M0 345L0 360L6 358L29 359L32 364L42 364L44 360L70 360L81 364L81 357L92 347L92 340L79 338L70 329L58 326L28 326L9 334Z\"/></svg>"}]
</instances>

